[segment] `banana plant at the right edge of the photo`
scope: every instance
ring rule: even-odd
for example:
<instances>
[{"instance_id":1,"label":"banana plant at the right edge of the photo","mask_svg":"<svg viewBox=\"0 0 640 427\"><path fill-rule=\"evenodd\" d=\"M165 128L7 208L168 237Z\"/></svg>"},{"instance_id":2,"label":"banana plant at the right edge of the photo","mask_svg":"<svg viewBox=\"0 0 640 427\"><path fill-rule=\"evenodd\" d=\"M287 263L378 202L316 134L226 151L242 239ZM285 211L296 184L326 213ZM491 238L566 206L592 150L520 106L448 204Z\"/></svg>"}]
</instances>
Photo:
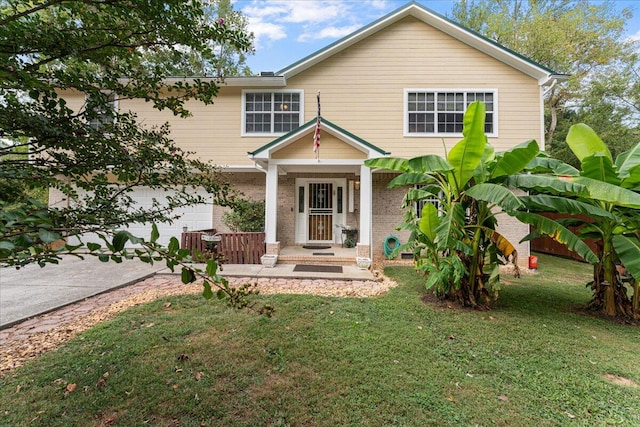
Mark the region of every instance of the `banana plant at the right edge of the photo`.
<instances>
[{"instance_id":1,"label":"banana plant at the right edge of the photo","mask_svg":"<svg viewBox=\"0 0 640 427\"><path fill-rule=\"evenodd\" d=\"M556 176L564 182L585 187L587 193L534 195L520 200L529 212L582 214L583 217L563 221L548 220L547 225L553 229L571 223L579 226L579 237L599 242L595 262L592 258L587 259L594 264L591 307L609 316L638 318L640 144L620 154L614 161L596 132L585 124L577 124L569 130L567 145L580 160L581 170L572 172L565 169L564 174L556 171ZM585 216L589 220L581 219ZM619 274L621 270L624 270L622 275ZM623 281L627 272L633 299L627 295Z\"/></svg>"}]
</instances>

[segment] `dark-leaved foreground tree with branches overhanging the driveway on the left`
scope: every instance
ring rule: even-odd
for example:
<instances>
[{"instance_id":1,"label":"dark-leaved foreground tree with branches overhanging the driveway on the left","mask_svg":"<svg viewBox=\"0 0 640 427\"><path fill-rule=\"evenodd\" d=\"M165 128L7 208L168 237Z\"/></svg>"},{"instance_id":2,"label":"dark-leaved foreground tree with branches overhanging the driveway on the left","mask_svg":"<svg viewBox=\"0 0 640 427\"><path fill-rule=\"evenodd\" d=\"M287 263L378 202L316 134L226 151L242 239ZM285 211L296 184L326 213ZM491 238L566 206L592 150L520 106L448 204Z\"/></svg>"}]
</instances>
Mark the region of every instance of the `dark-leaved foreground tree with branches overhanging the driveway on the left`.
<instances>
[{"instance_id":1,"label":"dark-leaved foreground tree with branches overhanging the driveway on the left","mask_svg":"<svg viewBox=\"0 0 640 427\"><path fill-rule=\"evenodd\" d=\"M203 202L194 196L196 187L221 204L232 189L212 165L177 147L167 125L144 127L134 113L113 107L114 99L136 98L186 117L188 101L213 102L214 80L168 80L144 56L180 46L214 57L211 43L249 50L243 31L205 19L206 6L198 0L0 2L0 265L45 265L65 253L166 260L171 268L186 260L175 239L169 248L156 243L155 227L148 241L117 230L171 220L174 208ZM80 109L67 104L70 93L86 96ZM130 196L136 186L171 196L144 208ZM34 188L61 191L69 207L34 199ZM82 240L86 232L103 243L60 244L69 236ZM127 242L140 249L128 252ZM205 294L211 296L213 283L233 300L239 294L216 268L203 272L209 275ZM183 281L198 274L183 264Z\"/></svg>"}]
</instances>

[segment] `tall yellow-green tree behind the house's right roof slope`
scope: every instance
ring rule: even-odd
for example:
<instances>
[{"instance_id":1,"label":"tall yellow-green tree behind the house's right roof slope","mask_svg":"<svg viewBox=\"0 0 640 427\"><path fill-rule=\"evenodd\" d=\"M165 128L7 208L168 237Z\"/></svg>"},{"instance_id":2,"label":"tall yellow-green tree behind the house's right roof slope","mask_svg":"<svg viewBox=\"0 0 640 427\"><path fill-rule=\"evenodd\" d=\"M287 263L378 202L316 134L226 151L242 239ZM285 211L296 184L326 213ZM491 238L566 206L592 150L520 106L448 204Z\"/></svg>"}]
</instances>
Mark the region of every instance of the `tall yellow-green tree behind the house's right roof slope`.
<instances>
[{"instance_id":1,"label":"tall yellow-green tree behind the house's right roof slope","mask_svg":"<svg viewBox=\"0 0 640 427\"><path fill-rule=\"evenodd\" d=\"M634 43L623 39L631 12L618 11L613 1L461 0L452 15L503 46L570 75L567 83L548 90L547 141L554 140L561 112L581 103L589 81L620 62L637 61Z\"/></svg>"}]
</instances>

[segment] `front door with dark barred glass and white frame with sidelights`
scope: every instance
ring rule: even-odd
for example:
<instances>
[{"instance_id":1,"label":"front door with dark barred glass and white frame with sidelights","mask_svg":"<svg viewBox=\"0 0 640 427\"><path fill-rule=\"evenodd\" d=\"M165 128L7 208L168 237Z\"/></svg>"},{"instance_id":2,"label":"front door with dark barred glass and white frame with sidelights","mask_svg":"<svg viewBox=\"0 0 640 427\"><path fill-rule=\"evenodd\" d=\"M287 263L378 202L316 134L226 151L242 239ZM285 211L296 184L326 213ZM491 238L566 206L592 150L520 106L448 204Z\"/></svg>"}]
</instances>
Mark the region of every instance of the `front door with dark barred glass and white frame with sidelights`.
<instances>
[{"instance_id":1,"label":"front door with dark barred glass and white frame with sidelights","mask_svg":"<svg viewBox=\"0 0 640 427\"><path fill-rule=\"evenodd\" d=\"M345 220L344 179L296 180L296 243L339 243Z\"/></svg>"}]
</instances>

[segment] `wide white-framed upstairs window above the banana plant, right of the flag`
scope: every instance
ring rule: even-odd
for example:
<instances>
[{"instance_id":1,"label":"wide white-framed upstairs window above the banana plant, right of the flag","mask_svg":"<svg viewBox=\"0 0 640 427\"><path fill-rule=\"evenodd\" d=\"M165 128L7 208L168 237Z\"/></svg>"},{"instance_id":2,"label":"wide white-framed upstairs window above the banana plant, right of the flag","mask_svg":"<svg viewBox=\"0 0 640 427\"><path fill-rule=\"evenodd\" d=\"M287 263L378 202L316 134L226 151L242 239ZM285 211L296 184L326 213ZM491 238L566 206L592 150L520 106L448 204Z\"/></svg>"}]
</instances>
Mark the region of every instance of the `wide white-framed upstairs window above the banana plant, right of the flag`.
<instances>
[{"instance_id":1,"label":"wide white-framed upstairs window above the banana plant, right of the flag","mask_svg":"<svg viewBox=\"0 0 640 427\"><path fill-rule=\"evenodd\" d=\"M405 135L461 135L464 112L474 101L486 105L485 133L497 133L495 91L410 89L405 98Z\"/></svg>"}]
</instances>

